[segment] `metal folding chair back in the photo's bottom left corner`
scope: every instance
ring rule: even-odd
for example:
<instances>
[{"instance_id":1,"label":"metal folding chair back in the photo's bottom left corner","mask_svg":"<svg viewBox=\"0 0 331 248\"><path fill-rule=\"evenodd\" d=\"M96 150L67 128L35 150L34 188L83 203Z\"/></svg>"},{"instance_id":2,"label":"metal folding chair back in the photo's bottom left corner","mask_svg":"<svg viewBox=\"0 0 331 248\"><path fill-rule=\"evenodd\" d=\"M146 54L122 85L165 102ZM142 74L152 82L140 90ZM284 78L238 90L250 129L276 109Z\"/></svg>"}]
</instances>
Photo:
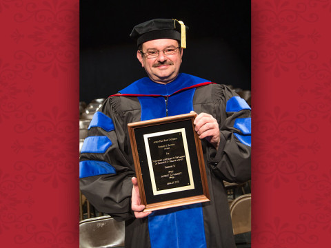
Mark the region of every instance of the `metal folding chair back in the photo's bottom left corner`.
<instances>
[{"instance_id":1,"label":"metal folding chair back in the photo's bottom left corner","mask_svg":"<svg viewBox=\"0 0 331 248\"><path fill-rule=\"evenodd\" d=\"M125 225L110 216L79 222L79 248L124 247Z\"/></svg>"}]
</instances>

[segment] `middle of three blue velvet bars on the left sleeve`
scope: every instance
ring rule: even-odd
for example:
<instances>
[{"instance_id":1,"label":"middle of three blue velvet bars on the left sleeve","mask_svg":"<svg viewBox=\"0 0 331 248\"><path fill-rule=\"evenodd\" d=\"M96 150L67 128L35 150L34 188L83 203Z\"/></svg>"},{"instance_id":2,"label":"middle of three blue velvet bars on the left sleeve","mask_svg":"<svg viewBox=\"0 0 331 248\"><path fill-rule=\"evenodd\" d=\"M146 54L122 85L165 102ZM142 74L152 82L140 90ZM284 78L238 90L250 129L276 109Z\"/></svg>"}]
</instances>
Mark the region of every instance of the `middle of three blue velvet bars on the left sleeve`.
<instances>
[{"instance_id":1,"label":"middle of three blue velvet bars on the left sleeve","mask_svg":"<svg viewBox=\"0 0 331 248\"><path fill-rule=\"evenodd\" d=\"M107 136L89 136L81 147L81 153L103 153L110 145L112 145L112 141Z\"/></svg>"}]
</instances>

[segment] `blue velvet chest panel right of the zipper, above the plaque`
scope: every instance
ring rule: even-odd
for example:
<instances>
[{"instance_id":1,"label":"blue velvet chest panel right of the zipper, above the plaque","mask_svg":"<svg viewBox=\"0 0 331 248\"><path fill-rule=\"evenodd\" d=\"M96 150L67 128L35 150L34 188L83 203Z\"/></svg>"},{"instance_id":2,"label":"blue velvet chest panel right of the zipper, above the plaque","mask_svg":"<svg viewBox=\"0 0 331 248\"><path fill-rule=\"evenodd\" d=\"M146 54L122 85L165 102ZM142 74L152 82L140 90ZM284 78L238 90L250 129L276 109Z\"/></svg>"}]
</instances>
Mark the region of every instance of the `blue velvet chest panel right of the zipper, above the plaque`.
<instances>
[{"instance_id":1,"label":"blue velvet chest panel right of the zipper, above the plaque","mask_svg":"<svg viewBox=\"0 0 331 248\"><path fill-rule=\"evenodd\" d=\"M174 94L168 99L168 116L187 114L193 110L193 96L197 88Z\"/></svg>"}]
</instances>

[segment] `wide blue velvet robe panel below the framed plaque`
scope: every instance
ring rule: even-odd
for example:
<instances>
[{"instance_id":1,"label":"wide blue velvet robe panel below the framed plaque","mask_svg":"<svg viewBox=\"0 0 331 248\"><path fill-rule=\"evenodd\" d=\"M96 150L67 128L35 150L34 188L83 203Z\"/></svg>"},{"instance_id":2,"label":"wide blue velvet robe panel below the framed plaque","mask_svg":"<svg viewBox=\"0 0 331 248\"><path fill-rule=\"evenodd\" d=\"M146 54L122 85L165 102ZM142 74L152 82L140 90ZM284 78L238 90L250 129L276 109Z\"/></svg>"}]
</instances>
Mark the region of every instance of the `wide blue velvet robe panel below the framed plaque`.
<instances>
[{"instance_id":1,"label":"wide blue velvet robe panel below the framed plaque","mask_svg":"<svg viewBox=\"0 0 331 248\"><path fill-rule=\"evenodd\" d=\"M206 247L201 203L153 211L148 230L152 248Z\"/></svg>"}]
</instances>

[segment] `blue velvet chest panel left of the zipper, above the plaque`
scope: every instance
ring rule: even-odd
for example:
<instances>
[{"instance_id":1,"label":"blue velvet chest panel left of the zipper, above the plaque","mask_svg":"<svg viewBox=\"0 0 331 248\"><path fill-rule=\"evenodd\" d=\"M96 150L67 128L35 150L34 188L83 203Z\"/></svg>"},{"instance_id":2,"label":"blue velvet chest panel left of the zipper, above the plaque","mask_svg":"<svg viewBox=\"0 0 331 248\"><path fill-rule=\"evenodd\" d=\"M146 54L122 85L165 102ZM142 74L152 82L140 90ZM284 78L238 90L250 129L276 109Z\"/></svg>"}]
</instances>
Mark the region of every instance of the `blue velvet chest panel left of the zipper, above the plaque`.
<instances>
[{"instance_id":1,"label":"blue velvet chest panel left of the zipper, above the plaque","mask_svg":"<svg viewBox=\"0 0 331 248\"><path fill-rule=\"evenodd\" d=\"M165 98L163 96L139 96L141 121L165 117Z\"/></svg>"}]
</instances>

